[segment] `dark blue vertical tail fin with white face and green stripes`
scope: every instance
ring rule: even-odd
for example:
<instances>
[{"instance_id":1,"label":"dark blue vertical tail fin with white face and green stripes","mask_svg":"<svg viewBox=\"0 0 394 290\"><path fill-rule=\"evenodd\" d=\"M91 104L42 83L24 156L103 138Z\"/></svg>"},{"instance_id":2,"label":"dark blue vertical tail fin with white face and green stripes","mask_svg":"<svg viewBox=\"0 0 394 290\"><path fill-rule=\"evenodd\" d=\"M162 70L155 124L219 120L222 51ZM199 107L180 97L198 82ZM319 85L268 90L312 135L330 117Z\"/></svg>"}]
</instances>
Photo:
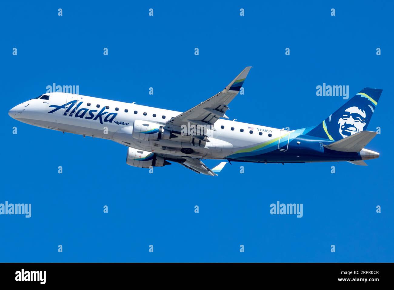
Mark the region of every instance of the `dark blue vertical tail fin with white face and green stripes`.
<instances>
[{"instance_id":1,"label":"dark blue vertical tail fin with white face and green stripes","mask_svg":"<svg viewBox=\"0 0 394 290\"><path fill-rule=\"evenodd\" d=\"M340 140L368 127L383 90L366 87L346 104L332 113L307 135L330 140Z\"/></svg>"}]
</instances>

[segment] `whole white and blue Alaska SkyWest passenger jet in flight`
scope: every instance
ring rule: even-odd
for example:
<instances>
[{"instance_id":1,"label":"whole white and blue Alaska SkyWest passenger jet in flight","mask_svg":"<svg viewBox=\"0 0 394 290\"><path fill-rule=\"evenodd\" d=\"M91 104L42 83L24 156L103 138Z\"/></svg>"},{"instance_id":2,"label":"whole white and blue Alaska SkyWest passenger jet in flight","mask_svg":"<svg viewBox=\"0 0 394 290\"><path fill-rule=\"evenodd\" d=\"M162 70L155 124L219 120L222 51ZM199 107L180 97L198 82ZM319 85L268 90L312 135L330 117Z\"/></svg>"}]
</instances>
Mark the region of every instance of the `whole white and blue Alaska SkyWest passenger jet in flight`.
<instances>
[{"instance_id":1,"label":"whole white and blue Alaska SkyWest passenger jet in flight","mask_svg":"<svg viewBox=\"0 0 394 290\"><path fill-rule=\"evenodd\" d=\"M210 176L228 162L367 165L364 160L379 157L364 147L377 134L366 129L381 89L362 89L316 126L284 130L230 121L229 104L250 69L246 67L222 91L185 112L54 92L22 102L8 114L33 126L125 145L126 163L131 166L152 168L175 162ZM201 159L226 161L210 169Z\"/></svg>"}]
</instances>

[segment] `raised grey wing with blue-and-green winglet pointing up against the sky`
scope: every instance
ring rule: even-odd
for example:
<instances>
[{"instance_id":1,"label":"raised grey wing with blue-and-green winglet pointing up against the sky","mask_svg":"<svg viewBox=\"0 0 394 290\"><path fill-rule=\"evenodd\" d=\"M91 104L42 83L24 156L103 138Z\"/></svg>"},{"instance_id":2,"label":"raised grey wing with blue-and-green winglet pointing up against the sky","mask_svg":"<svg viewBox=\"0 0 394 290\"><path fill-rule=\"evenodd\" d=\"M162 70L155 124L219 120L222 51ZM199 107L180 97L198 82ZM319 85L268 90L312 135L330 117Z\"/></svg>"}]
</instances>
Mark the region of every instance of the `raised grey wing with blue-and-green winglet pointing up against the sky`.
<instances>
[{"instance_id":1,"label":"raised grey wing with blue-and-green winglet pointing up against the sky","mask_svg":"<svg viewBox=\"0 0 394 290\"><path fill-rule=\"evenodd\" d=\"M251 67L245 67L245 69L243 69L223 91L167 121L167 126L180 127L182 125L187 126L188 123L190 123L194 125L208 125L208 128L211 128L211 125L214 125L219 118L224 117L229 119L225 115L226 111L229 110L228 105L240 92L242 84L250 69Z\"/></svg>"}]
</instances>

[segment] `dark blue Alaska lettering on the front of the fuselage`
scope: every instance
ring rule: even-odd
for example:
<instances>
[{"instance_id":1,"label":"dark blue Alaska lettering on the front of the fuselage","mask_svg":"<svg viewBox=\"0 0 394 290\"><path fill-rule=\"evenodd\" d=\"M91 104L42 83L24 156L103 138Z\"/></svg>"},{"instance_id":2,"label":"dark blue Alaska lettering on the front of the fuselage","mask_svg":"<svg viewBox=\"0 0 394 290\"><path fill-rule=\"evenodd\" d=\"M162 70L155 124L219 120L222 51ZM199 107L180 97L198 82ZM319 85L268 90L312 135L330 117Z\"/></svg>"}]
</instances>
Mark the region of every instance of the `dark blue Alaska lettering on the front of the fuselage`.
<instances>
[{"instance_id":1,"label":"dark blue Alaska lettering on the front of the fuselage","mask_svg":"<svg viewBox=\"0 0 394 290\"><path fill-rule=\"evenodd\" d=\"M61 106L50 105L50 107L55 108L55 109L53 109L52 111L50 111L48 113L54 113L54 112L56 112L56 111L58 111L60 109L66 109L67 108L67 110L65 110L64 113L63 113L64 116L67 116L67 115L69 117L73 117L74 116L75 118L81 118L81 119L84 118L84 119L87 119L87 120L93 119L93 121L96 121L97 119L99 119L101 124L103 122L112 123L112 121L117 116L117 113L104 112L106 107L102 108L100 110L100 112L98 112L97 115L95 115L97 110L89 110L88 108L79 108L83 104L83 102L78 102L78 104L75 106L76 102L77 102L76 100L72 100L71 102L63 104ZM88 114L88 115L85 117L86 114ZM105 117L104 117L104 115L105 115ZM104 119L103 119L103 117L104 117Z\"/></svg>"}]
</instances>

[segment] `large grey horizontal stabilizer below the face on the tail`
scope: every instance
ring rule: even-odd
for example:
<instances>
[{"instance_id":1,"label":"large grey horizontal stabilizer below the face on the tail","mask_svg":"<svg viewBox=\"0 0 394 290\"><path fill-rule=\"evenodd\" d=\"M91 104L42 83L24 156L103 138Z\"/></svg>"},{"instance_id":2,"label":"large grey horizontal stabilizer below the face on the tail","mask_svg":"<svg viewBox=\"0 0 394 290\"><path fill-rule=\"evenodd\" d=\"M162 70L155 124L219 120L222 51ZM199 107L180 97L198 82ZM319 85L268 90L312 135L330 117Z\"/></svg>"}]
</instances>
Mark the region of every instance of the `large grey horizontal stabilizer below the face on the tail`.
<instances>
[{"instance_id":1,"label":"large grey horizontal stabilizer below the face on the tail","mask_svg":"<svg viewBox=\"0 0 394 290\"><path fill-rule=\"evenodd\" d=\"M376 134L372 131L361 131L324 147L341 152L360 152Z\"/></svg>"}]
</instances>

